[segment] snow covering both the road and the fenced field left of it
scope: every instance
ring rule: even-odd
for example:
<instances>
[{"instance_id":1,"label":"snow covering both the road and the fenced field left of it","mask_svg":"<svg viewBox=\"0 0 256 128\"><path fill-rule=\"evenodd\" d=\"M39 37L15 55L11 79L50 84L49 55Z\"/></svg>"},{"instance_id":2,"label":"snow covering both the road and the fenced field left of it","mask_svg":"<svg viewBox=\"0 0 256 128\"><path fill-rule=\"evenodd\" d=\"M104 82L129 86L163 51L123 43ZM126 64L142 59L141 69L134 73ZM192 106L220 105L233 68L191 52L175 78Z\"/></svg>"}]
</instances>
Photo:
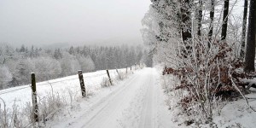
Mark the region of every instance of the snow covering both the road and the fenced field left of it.
<instances>
[{"instance_id":1,"label":"snow covering both the road and the fenced field left of it","mask_svg":"<svg viewBox=\"0 0 256 128\"><path fill-rule=\"evenodd\" d=\"M124 73L125 69L122 71ZM160 86L160 75L155 68L132 71L127 79L116 81L108 88L102 88L102 78L107 75L105 72L84 73L86 89L93 94L87 98L79 98L71 106L61 108L55 117L48 119L45 124L41 122L41 126L56 128L177 127L171 120L172 115L169 114L166 106L166 96ZM117 76L115 70L110 73L113 77ZM38 97L47 96L51 93L51 88L54 93L58 92L60 95L68 96L68 89L78 90L78 94L81 95L77 77L50 80L52 87L47 82L38 83ZM31 101L31 89L23 89L27 86L1 91L1 96L8 108L11 109L15 100L19 101L16 104Z\"/></svg>"}]
</instances>

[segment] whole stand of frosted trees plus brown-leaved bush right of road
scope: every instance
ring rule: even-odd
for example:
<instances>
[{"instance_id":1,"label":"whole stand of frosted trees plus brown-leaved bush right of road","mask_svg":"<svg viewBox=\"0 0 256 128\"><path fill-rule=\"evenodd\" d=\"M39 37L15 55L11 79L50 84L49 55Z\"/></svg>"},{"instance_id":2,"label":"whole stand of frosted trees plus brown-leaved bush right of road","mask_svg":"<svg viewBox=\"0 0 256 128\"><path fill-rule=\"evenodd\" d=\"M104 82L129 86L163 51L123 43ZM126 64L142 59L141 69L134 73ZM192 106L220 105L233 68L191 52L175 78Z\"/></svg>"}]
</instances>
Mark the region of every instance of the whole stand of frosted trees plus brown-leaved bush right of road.
<instances>
[{"instance_id":1,"label":"whole stand of frosted trees plus brown-leaved bush right of road","mask_svg":"<svg viewBox=\"0 0 256 128\"><path fill-rule=\"evenodd\" d=\"M151 2L142 21L144 44L164 64L163 74L180 80L171 88L189 91L180 102L186 113L212 122L213 99L240 96L241 79L253 77L256 2L243 0L242 15L233 15L237 0Z\"/></svg>"}]
</instances>

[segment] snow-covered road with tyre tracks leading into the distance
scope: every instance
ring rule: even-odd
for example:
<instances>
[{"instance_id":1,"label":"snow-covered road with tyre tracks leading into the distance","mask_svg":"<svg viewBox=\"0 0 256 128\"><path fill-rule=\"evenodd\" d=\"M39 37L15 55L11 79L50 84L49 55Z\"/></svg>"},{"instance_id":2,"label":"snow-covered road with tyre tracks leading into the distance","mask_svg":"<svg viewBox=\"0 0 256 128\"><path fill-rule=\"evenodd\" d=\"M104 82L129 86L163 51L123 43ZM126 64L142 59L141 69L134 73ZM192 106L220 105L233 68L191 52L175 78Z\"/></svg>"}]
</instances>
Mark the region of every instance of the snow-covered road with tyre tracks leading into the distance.
<instances>
[{"instance_id":1,"label":"snow-covered road with tyre tracks leading into the distance","mask_svg":"<svg viewBox=\"0 0 256 128\"><path fill-rule=\"evenodd\" d=\"M94 96L81 105L72 119L50 127L170 128L163 90L154 68L144 68L115 85L108 93Z\"/></svg>"}]
</instances>

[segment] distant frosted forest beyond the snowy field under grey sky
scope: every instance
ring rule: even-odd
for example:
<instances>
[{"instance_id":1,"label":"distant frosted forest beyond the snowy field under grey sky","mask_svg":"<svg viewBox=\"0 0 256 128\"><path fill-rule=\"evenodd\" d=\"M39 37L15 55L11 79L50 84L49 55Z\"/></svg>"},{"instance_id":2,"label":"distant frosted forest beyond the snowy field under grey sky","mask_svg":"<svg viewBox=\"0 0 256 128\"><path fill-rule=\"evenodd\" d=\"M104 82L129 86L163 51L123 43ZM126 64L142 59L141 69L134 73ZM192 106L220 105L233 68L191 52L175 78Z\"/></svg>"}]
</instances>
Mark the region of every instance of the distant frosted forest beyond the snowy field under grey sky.
<instances>
[{"instance_id":1,"label":"distant frosted forest beyond the snowy field under grey sky","mask_svg":"<svg viewBox=\"0 0 256 128\"><path fill-rule=\"evenodd\" d=\"M30 74L38 81L56 79L102 69L130 67L135 63L152 66L152 58L143 46L79 46L67 49L42 49L22 45L0 46L0 89L29 84Z\"/></svg>"}]
</instances>

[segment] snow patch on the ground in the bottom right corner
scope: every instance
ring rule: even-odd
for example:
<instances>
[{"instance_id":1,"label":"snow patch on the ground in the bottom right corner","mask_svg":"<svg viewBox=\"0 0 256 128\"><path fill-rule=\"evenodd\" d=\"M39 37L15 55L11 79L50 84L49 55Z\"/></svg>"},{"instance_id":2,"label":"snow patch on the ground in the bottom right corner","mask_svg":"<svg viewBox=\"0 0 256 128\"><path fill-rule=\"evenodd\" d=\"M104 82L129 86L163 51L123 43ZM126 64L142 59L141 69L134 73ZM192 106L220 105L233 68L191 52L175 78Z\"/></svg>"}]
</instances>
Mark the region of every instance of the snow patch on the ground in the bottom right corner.
<instances>
[{"instance_id":1,"label":"snow patch on the ground in the bottom right corner","mask_svg":"<svg viewBox=\"0 0 256 128\"><path fill-rule=\"evenodd\" d=\"M248 99L249 105L256 108L256 91L252 90L251 94L246 97L254 98ZM247 106L244 99L240 98L237 101L227 102L224 108L221 108L220 113L213 117L213 122L218 127L245 127L254 128L256 125L256 113Z\"/></svg>"}]
</instances>

